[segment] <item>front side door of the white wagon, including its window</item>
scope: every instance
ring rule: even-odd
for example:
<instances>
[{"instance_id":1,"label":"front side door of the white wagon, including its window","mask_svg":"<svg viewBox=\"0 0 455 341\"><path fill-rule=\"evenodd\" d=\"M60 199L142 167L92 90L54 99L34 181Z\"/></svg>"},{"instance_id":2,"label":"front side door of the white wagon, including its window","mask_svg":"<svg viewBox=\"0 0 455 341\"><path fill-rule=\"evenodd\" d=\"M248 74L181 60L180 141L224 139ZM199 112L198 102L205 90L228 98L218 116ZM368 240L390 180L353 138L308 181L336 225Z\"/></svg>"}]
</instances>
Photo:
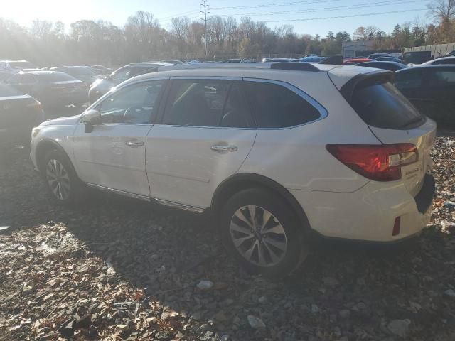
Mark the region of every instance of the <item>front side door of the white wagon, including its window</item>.
<instances>
[{"instance_id":1,"label":"front side door of the white wagon, including its window","mask_svg":"<svg viewBox=\"0 0 455 341\"><path fill-rule=\"evenodd\" d=\"M146 136L164 80L128 85L98 104L102 124L75 130L75 168L85 183L149 197L146 176Z\"/></svg>"}]
</instances>

